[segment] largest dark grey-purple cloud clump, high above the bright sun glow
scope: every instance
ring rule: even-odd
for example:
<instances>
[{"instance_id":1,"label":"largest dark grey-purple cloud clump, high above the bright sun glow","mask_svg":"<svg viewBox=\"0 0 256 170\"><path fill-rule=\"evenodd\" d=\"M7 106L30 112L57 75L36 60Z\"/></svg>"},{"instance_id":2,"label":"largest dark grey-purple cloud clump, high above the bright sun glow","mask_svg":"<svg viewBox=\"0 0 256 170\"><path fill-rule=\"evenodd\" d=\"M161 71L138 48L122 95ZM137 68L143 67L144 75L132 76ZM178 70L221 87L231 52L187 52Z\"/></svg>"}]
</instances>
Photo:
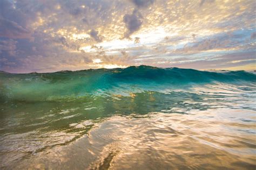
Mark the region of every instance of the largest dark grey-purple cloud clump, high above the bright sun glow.
<instances>
[{"instance_id":1,"label":"largest dark grey-purple cloud clump, high above the bright sun glow","mask_svg":"<svg viewBox=\"0 0 256 170\"><path fill-rule=\"evenodd\" d=\"M132 14L126 14L123 18L127 32L124 37L129 38L132 33L139 30L143 23L142 15L138 10L134 10Z\"/></svg>"}]
</instances>

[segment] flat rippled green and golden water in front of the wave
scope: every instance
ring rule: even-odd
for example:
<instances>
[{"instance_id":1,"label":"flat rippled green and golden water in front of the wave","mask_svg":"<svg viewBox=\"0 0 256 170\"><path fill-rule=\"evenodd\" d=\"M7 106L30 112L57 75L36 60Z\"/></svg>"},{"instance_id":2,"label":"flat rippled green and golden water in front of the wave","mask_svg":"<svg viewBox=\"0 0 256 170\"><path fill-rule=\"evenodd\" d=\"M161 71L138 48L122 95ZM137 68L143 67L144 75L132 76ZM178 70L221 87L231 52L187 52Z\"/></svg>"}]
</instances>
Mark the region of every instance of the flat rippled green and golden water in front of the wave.
<instances>
[{"instance_id":1,"label":"flat rippled green and golden water in front of the wave","mask_svg":"<svg viewBox=\"0 0 256 170\"><path fill-rule=\"evenodd\" d=\"M239 88L6 103L0 168L255 169L256 88Z\"/></svg>"}]
</instances>

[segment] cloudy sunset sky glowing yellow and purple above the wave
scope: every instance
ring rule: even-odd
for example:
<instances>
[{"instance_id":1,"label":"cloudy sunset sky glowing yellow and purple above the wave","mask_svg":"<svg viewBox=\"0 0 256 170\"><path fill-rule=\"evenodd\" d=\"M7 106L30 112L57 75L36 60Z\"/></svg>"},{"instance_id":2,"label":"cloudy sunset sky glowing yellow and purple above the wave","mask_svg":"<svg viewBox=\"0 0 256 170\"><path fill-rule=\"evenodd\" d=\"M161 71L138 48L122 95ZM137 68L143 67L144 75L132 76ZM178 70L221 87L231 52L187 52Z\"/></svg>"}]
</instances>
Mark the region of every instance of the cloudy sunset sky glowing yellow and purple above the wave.
<instances>
[{"instance_id":1,"label":"cloudy sunset sky glowing yellow and purple above the wave","mask_svg":"<svg viewBox=\"0 0 256 170\"><path fill-rule=\"evenodd\" d=\"M256 70L256 1L1 0L0 70Z\"/></svg>"}]
</instances>

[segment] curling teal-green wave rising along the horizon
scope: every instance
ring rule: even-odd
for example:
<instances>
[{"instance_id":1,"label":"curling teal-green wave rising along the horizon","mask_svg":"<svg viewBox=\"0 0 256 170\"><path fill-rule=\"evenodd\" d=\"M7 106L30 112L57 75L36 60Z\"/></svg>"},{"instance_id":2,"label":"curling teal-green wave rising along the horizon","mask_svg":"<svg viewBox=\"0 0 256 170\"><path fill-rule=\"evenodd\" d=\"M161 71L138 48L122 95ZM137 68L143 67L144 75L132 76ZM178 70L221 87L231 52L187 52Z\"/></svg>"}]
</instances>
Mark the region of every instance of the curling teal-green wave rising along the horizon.
<instances>
[{"instance_id":1,"label":"curling teal-green wave rising along the horizon","mask_svg":"<svg viewBox=\"0 0 256 170\"><path fill-rule=\"evenodd\" d=\"M0 73L1 101L54 101L65 98L126 95L143 91L186 90L205 84L248 85L256 75L245 71L131 66L56 73Z\"/></svg>"}]
</instances>

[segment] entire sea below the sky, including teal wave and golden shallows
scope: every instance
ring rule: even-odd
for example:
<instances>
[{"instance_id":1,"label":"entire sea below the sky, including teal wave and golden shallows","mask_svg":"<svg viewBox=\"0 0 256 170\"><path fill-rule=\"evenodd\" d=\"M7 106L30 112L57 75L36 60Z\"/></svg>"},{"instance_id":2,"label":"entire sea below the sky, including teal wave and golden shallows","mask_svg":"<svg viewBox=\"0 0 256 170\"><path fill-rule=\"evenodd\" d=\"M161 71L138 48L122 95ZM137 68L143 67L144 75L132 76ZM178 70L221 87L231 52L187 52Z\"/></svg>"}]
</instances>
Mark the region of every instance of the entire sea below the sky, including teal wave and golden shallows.
<instances>
[{"instance_id":1,"label":"entire sea below the sky, including teal wave and golden shallows","mask_svg":"<svg viewBox=\"0 0 256 170\"><path fill-rule=\"evenodd\" d=\"M0 73L1 169L255 169L256 75Z\"/></svg>"}]
</instances>

